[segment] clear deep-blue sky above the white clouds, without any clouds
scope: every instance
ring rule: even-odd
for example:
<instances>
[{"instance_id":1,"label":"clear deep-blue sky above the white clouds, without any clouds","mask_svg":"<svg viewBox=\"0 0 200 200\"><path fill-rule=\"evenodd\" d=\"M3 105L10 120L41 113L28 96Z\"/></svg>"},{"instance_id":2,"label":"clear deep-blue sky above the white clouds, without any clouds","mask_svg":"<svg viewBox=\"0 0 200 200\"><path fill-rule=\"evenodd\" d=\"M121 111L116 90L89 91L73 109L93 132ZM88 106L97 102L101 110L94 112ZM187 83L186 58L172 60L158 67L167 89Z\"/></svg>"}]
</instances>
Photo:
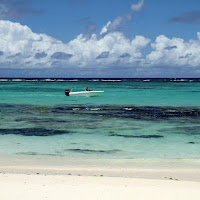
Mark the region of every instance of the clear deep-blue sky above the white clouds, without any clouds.
<instances>
[{"instance_id":1,"label":"clear deep-blue sky above the white clouds, without any clouds","mask_svg":"<svg viewBox=\"0 0 200 200\"><path fill-rule=\"evenodd\" d=\"M130 5L138 0L34 0L32 8L40 15L26 15L19 21L33 32L45 33L69 42L85 31L93 22L97 32L118 15L129 12ZM198 11L198 0L145 0L139 13L125 25L123 32L129 37L137 34L154 39L160 34L184 39L196 38L199 23L169 23L183 13ZM200 8L199 8L200 17Z\"/></svg>"}]
</instances>

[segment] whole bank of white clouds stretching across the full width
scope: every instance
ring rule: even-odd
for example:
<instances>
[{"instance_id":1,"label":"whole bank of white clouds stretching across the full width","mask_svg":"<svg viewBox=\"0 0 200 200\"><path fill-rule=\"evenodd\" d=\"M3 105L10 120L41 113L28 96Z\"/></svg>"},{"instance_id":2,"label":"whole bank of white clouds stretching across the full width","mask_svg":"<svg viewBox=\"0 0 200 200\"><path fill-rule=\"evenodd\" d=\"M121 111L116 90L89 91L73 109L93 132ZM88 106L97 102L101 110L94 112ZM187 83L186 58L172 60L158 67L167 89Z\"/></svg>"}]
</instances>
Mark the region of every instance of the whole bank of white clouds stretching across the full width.
<instances>
[{"instance_id":1,"label":"whole bank of white clouds stretching across the full width","mask_svg":"<svg viewBox=\"0 0 200 200\"><path fill-rule=\"evenodd\" d=\"M63 69L82 76L192 76L200 74L199 55L200 32L196 40L189 41L165 35L155 40L142 35L129 39L118 31L86 38L83 33L63 43L20 23L0 20L1 70Z\"/></svg>"}]
</instances>

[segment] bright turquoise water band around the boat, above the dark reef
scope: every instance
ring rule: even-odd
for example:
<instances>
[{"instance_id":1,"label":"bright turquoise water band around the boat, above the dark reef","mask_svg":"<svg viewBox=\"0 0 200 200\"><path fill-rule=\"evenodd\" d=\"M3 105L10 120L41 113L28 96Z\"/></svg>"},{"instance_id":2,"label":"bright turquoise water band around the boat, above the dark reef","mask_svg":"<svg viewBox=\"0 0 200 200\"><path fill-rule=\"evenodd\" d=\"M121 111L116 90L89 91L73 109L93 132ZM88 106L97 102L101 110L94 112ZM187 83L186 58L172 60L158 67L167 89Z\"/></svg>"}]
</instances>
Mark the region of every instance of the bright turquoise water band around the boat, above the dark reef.
<instances>
[{"instance_id":1,"label":"bright turquoise water band around the boat, above the dark reef","mask_svg":"<svg viewBox=\"0 0 200 200\"><path fill-rule=\"evenodd\" d=\"M95 79L96 80L96 79ZM31 105L136 105L136 106L199 106L200 82L120 82L79 80L65 82L0 82L1 103ZM86 87L104 90L96 98L66 98L66 88L81 91Z\"/></svg>"}]
</instances>

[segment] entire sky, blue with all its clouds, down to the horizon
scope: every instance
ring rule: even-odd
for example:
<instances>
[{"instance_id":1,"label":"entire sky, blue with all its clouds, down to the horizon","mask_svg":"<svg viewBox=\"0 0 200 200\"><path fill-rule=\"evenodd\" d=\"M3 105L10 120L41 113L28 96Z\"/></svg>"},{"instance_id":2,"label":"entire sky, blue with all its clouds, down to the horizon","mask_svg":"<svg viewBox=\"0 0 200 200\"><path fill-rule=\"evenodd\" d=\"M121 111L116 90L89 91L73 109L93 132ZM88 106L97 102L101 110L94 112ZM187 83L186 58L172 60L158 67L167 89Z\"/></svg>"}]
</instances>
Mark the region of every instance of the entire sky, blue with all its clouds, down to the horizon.
<instances>
[{"instance_id":1,"label":"entire sky, blue with all its clouds, down to the horizon","mask_svg":"<svg viewBox=\"0 0 200 200\"><path fill-rule=\"evenodd\" d=\"M198 78L199 0L0 0L0 77Z\"/></svg>"}]
</instances>

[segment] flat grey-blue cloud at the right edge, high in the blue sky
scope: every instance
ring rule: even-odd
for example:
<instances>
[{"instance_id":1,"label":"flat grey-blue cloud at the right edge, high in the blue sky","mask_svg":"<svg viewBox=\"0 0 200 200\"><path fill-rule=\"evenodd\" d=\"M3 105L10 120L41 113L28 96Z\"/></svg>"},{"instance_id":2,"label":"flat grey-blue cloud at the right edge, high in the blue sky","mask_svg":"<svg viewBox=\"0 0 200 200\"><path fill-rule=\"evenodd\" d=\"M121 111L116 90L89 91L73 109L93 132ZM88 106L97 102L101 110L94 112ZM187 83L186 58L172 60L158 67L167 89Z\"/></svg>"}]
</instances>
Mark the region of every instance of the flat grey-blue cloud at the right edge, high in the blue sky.
<instances>
[{"instance_id":1,"label":"flat grey-blue cloud at the right edge, high in the blue sky","mask_svg":"<svg viewBox=\"0 0 200 200\"><path fill-rule=\"evenodd\" d=\"M178 17L174 17L169 20L169 22L178 22L178 23L200 23L200 11L192 11L192 12L185 12L182 13Z\"/></svg>"}]
</instances>

